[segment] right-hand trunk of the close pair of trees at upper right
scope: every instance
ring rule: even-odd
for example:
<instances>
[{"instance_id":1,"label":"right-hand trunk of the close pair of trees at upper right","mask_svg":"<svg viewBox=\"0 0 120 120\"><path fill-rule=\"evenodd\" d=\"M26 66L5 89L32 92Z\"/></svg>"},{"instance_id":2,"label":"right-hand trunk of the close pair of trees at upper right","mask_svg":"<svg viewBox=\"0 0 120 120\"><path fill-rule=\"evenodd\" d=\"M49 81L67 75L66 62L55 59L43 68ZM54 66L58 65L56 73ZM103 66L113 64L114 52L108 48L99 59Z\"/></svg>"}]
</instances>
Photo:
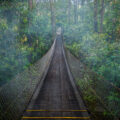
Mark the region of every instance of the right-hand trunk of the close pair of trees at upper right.
<instances>
[{"instance_id":1,"label":"right-hand trunk of the close pair of trees at upper right","mask_svg":"<svg viewBox=\"0 0 120 120\"><path fill-rule=\"evenodd\" d=\"M104 11L105 11L105 6L104 6L104 0L101 0L101 11L100 11L100 32L103 32L103 20L104 20Z\"/></svg>"}]
</instances>

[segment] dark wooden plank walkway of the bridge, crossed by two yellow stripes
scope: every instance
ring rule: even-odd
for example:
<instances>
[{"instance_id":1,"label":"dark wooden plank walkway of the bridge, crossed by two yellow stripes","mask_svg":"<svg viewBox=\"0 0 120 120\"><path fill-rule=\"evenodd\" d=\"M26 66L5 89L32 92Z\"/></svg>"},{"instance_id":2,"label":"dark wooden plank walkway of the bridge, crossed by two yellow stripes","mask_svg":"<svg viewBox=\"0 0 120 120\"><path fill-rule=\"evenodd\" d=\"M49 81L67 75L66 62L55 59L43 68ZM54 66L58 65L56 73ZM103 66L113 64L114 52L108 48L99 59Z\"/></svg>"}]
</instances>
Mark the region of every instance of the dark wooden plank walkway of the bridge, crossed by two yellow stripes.
<instances>
[{"instance_id":1,"label":"dark wooden plank walkway of the bridge, crossed by two yellow stripes","mask_svg":"<svg viewBox=\"0 0 120 120\"><path fill-rule=\"evenodd\" d=\"M32 99L25 111L24 119L90 119L79 107L70 83L65 59L62 52L62 39L58 35L55 52L48 73L37 96Z\"/></svg>"}]
</instances>

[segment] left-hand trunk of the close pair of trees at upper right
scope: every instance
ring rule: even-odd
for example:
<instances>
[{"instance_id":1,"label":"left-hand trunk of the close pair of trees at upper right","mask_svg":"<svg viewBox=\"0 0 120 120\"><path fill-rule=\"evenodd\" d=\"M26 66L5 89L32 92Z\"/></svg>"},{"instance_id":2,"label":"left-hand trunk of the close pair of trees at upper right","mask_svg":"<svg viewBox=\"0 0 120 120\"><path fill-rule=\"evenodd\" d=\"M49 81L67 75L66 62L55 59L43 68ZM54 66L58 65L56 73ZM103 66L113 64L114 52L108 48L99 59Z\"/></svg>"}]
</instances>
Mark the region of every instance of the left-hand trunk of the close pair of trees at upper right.
<instances>
[{"instance_id":1,"label":"left-hand trunk of the close pair of trees at upper right","mask_svg":"<svg viewBox=\"0 0 120 120\"><path fill-rule=\"evenodd\" d=\"M98 32L98 0L94 0L94 31Z\"/></svg>"}]
</instances>

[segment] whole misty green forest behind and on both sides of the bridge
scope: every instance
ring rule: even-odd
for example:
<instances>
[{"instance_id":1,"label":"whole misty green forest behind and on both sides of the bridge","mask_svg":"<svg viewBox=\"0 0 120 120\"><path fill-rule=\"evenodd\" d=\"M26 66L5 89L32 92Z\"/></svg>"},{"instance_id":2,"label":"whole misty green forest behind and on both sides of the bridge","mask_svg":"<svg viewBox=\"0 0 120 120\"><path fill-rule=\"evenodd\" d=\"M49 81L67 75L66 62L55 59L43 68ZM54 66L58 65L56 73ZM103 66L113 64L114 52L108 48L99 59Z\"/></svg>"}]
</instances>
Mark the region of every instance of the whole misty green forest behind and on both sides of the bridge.
<instances>
[{"instance_id":1,"label":"whole misty green forest behind and on both sides of the bridge","mask_svg":"<svg viewBox=\"0 0 120 120\"><path fill-rule=\"evenodd\" d=\"M0 85L39 60L58 27L71 53L120 91L120 0L0 0Z\"/></svg>"}]
</instances>

